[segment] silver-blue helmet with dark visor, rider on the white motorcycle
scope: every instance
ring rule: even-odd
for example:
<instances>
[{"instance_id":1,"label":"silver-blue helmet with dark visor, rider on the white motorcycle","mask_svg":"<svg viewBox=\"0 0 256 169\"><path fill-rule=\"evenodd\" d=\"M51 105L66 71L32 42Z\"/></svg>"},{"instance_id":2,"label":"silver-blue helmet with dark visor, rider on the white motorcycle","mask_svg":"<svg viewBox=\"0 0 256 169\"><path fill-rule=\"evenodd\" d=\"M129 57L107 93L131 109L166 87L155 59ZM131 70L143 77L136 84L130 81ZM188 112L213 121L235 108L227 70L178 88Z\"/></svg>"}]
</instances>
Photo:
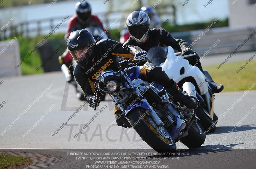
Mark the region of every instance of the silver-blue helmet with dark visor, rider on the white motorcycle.
<instances>
[{"instance_id":1,"label":"silver-blue helmet with dark visor, rider on the white motorcycle","mask_svg":"<svg viewBox=\"0 0 256 169\"><path fill-rule=\"evenodd\" d=\"M134 11L130 13L126 20L128 31L133 39L142 42L147 39L150 19L148 14L143 11Z\"/></svg>"}]
</instances>

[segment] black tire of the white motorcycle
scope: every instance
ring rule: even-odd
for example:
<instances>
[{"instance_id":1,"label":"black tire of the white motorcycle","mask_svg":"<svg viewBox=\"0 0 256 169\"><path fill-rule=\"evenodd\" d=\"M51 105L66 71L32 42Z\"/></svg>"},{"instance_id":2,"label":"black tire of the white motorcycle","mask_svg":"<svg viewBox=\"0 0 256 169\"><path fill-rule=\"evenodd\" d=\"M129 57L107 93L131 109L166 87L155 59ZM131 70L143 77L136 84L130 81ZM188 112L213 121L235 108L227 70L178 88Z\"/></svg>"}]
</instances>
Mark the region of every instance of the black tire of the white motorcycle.
<instances>
[{"instance_id":1,"label":"black tire of the white motorcycle","mask_svg":"<svg viewBox=\"0 0 256 169\"><path fill-rule=\"evenodd\" d=\"M215 131L216 125L214 124L212 118L206 115L201 107L199 109L196 109L196 116L200 118L199 123L203 126L204 130L207 133L212 133Z\"/></svg>"}]
</instances>

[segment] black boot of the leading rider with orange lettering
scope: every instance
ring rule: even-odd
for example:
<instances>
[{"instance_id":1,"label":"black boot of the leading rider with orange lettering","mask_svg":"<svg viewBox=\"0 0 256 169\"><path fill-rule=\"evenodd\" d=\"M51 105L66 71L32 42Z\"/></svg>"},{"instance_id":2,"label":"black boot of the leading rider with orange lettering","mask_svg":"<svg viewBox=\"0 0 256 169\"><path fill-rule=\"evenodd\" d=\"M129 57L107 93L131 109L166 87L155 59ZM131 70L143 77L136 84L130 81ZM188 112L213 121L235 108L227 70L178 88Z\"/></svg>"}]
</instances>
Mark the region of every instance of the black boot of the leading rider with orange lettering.
<instances>
[{"instance_id":1,"label":"black boot of the leading rider with orange lettering","mask_svg":"<svg viewBox=\"0 0 256 169\"><path fill-rule=\"evenodd\" d=\"M173 96L174 100L180 102L181 104L185 105L188 109L196 109L199 105L196 99L185 95L180 88L178 87L177 83L174 81L171 88L164 88L170 95Z\"/></svg>"}]
</instances>

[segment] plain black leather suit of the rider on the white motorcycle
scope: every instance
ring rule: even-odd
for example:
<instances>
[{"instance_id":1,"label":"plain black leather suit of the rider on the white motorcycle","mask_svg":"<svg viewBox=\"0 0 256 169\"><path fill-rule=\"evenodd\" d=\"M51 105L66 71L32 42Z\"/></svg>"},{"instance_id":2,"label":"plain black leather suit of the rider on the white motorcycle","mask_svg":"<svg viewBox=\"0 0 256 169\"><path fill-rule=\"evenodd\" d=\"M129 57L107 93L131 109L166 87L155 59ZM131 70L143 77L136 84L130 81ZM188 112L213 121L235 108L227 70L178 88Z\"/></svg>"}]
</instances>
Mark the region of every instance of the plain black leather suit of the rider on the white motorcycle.
<instances>
[{"instance_id":1,"label":"plain black leather suit of the rider on the white motorcycle","mask_svg":"<svg viewBox=\"0 0 256 169\"><path fill-rule=\"evenodd\" d=\"M139 46L146 52L148 52L148 50L154 46L171 46L173 49L176 49L179 52L182 52L185 50L185 48L189 47L188 42L173 38L172 35L164 28L150 29L148 32L148 39L144 43L137 42L130 36L129 39L124 42L124 45ZM203 71L200 61L197 61L199 59L199 56L190 57L188 61L191 65L196 65L201 71Z\"/></svg>"}]
</instances>

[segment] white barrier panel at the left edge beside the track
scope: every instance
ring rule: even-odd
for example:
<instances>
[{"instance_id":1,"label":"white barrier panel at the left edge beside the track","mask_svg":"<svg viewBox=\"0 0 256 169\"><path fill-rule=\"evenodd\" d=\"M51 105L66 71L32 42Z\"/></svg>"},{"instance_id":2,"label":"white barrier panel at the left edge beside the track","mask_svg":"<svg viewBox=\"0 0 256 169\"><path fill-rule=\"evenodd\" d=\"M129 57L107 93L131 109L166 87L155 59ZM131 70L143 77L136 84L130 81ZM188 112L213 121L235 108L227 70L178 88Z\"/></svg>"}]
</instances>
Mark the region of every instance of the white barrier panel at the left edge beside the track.
<instances>
[{"instance_id":1,"label":"white barrier panel at the left edge beside the track","mask_svg":"<svg viewBox=\"0 0 256 169\"><path fill-rule=\"evenodd\" d=\"M20 49L18 40L0 42L0 77L20 76Z\"/></svg>"}]
</instances>

